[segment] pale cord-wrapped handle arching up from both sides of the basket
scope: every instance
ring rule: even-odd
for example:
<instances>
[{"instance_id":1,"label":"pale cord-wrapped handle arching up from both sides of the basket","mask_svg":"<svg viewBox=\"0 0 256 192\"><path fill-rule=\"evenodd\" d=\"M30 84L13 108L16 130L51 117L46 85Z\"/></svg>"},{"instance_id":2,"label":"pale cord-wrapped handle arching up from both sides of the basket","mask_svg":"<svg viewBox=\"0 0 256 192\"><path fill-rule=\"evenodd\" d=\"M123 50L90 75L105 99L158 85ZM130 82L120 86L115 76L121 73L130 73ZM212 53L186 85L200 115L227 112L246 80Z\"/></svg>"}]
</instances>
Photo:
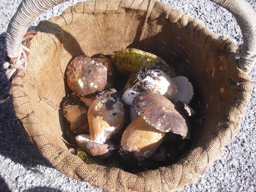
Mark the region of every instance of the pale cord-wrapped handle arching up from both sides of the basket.
<instances>
[{"instance_id":1,"label":"pale cord-wrapped handle arching up from both sides of the basket","mask_svg":"<svg viewBox=\"0 0 256 192\"><path fill-rule=\"evenodd\" d=\"M13 63L22 52L22 39L27 28L44 11L66 0L23 0L6 31L6 52ZM256 12L245 0L211 0L233 14L242 31L243 44L237 50L237 63L251 71L256 61Z\"/></svg>"}]
</instances>

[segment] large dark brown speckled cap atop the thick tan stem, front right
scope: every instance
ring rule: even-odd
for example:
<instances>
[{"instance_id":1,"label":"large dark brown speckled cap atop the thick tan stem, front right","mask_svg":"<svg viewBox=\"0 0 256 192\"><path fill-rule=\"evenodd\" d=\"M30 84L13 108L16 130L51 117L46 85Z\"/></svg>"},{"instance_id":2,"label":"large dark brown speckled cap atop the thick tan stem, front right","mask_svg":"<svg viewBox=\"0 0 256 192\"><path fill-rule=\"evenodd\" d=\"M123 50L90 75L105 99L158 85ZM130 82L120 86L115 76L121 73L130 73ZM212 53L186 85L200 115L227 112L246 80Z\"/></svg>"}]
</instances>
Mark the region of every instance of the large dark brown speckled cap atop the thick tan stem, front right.
<instances>
[{"instance_id":1,"label":"large dark brown speckled cap atop the thick tan stem, front right","mask_svg":"<svg viewBox=\"0 0 256 192\"><path fill-rule=\"evenodd\" d=\"M162 95L153 92L139 93L133 100L139 116L151 126L167 133L169 131L185 137L188 132L186 121L175 110L175 105Z\"/></svg>"}]
</instances>

